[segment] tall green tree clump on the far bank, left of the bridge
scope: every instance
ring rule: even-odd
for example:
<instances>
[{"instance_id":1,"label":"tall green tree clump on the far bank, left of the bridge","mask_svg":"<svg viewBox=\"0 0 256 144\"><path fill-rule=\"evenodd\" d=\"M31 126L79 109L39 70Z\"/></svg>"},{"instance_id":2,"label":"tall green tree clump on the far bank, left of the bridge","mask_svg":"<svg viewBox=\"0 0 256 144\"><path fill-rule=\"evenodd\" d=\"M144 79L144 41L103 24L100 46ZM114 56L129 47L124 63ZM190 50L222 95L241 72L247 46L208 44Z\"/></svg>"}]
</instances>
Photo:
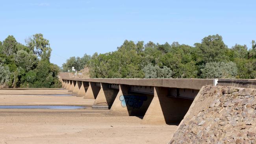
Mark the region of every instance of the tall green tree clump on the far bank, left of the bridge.
<instances>
[{"instance_id":1,"label":"tall green tree clump on the far bank, left of the bridge","mask_svg":"<svg viewBox=\"0 0 256 144\"><path fill-rule=\"evenodd\" d=\"M25 42L17 42L13 35L0 41L0 87L61 87L59 66L50 63L49 41L37 33Z\"/></svg>"}]
</instances>

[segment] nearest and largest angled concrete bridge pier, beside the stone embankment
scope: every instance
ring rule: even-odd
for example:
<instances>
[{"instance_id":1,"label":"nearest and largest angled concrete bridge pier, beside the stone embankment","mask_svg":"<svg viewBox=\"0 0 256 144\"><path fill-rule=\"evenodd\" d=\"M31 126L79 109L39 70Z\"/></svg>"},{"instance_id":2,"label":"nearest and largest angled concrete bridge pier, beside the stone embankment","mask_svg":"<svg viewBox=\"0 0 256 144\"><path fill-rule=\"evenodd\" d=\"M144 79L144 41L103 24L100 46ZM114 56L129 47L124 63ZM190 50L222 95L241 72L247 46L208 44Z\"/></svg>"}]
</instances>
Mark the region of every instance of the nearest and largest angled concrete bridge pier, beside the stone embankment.
<instances>
[{"instance_id":1,"label":"nearest and largest angled concrete bridge pier, beside the stone embankment","mask_svg":"<svg viewBox=\"0 0 256 144\"><path fill-rule=\"evenodd\" d=\"M193 100L168 97L169 89L154 87L154 98L143 117L143 124L179 123Z\"/></svg>"}]
</instances>

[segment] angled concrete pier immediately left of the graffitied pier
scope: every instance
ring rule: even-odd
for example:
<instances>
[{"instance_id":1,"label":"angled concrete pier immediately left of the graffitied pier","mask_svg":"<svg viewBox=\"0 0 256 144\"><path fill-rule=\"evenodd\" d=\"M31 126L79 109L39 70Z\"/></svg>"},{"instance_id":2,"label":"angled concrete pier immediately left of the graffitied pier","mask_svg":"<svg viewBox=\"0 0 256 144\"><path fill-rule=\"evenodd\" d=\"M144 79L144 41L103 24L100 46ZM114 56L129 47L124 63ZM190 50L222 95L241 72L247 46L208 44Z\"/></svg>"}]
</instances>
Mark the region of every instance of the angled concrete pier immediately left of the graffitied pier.
<instances>
[{"instance_id":1,"label":"angled concrete pier immediately left of the graffitied pier","mask_svg":"<svg viewBox=\"0 0 256 144\"><path fill-rule=\"evenodd\" d=\"M107 83L100 83L100 91L93 107L110 108L119 92L118 89L110 89Z\"/></svg>"}]
</instances>

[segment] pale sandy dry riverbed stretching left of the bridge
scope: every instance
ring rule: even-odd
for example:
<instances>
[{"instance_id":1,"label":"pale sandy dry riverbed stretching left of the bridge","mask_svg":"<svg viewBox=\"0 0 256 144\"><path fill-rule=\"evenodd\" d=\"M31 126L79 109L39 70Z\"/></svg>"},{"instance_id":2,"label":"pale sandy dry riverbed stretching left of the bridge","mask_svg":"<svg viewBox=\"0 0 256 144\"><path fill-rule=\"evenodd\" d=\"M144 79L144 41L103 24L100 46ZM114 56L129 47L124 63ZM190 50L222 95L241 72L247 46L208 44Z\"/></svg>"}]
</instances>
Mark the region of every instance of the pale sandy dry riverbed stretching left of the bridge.
<instances>
[{"instance_id":1,"label":"pale sandy dry riverbed stretching left of the bridge","mask_svg":"<svg viewBox=\"0 0 256 144\"><path fill-rule=\"evenodd\" d=\"M22 94L30 92L53 94L54 90L29 90ZM75 96L17 95L8 94L8 90L0 93L0 105L92 105L94 102ZM166 144L177 127L144 125L136 116L108 113L109 110L97 109L0 109L0 144Z\"/></svg>"}]
</instances>

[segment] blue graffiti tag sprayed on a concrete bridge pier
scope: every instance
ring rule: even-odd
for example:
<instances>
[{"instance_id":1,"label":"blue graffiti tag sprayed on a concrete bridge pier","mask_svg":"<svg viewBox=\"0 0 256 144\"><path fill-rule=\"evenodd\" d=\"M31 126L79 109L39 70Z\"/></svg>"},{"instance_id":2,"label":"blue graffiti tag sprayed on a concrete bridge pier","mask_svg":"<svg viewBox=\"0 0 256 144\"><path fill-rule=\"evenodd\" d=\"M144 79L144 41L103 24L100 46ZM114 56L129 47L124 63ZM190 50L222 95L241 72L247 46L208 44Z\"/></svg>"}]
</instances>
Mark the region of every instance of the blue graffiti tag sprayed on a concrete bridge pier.
<instances>
[{"instance_id":1,"label":"blue graffiti tag sprayed on a concrete bridge pier","mask_svg":"<svg viewBox=\"0 0 256 144\"><path fill-rule=\"evenodd\" d=\"M129 105L132 108L139 109L143 102L147 100L147 96L121 95L119 97L122 107Z\"/></svg>"}]
</instances>

